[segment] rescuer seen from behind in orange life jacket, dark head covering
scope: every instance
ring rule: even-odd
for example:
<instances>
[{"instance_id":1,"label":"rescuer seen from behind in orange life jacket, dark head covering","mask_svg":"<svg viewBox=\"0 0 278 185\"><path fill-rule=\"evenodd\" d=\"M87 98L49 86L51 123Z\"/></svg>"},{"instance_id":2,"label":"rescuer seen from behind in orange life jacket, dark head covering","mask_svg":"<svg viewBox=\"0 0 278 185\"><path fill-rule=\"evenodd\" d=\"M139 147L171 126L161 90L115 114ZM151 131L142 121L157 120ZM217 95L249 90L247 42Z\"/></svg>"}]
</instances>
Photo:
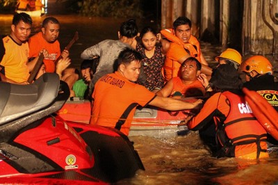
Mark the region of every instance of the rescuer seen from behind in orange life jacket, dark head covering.
<instances>
[{"instance_id":1,"label":"rescuer seen from behind in orange life jacket, dark head covering","mask_svg":"<svg viewBox=\"0 0 278 185\"><path fill-rule=\"evenodd\" d=\"M218 93L207 99L201 111L188 122L188 128L197 131L214 120L218 148L213 152L217 157L268 157L266 131L245 102L238 71L230 65L220 65L211 82Z\"/></svg>"}]
</instances>

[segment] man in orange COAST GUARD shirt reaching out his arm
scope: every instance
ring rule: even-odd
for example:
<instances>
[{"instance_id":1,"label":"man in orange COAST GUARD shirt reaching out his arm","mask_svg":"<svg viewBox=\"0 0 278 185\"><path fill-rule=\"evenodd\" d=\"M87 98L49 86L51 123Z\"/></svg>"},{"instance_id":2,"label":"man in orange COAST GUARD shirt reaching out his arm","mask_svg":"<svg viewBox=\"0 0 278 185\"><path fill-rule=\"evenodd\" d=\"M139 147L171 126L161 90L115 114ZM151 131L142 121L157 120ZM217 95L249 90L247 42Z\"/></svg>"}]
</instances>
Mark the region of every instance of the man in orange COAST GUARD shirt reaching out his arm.
<instances>
[{"instance_id":1,"label":"man in orange COAST GUARD shirt reaching out his arm","mask_svg":"<svg viewBox=\"0 0 278 185\"><path fill-rule=\"evenodd\" d=\"M159 97L136 83L140 74L141 56L126 48L117 58L117 71L106 74L95 84L92 94L90 124L112 127L129 135L136 106L158 106L170 111L198 108L202 100L182 102L169 97Z\"/></svg>"}]
</instances>

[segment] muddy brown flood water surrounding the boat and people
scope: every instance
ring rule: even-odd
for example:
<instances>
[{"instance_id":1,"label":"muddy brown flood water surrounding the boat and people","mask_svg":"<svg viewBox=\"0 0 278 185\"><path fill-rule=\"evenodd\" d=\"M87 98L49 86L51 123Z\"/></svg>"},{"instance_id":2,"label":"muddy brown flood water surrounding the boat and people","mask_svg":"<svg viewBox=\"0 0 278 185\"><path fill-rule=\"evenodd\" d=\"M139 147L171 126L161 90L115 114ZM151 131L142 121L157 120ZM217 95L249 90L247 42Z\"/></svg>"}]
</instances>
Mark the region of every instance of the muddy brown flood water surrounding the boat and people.
<instances>
[{"instance_id":1,"label":"muddy brown flood water surrounding the boat and people","mask_svg":"<svg viewBox=\"0 0 278 185\"><path fill-rule=\"evenodd\" d=\"M72 67L77 68L84 49L101 40L117 40L117 29L126 20L77 15L55 17L61 24L59 40L62 48L70 42L75 31L79 32L79 40L70 49ZM12 19L13 15L0 15L0 35L10 34ZM33 18L32 34L40 30L43 19ZM147 25L157 26L155 22L137 22L139 29ZM201 47L206 60L213 65L215 56L220 54L222 48L208 43L202 43ZM215 159L197 132L174 138L131 136L130 139L138 150L145 171L140 170L135 177L117 184L278 184L277 152L271 152L270 159L264 161Z\"/></svg>"}]
</instances>

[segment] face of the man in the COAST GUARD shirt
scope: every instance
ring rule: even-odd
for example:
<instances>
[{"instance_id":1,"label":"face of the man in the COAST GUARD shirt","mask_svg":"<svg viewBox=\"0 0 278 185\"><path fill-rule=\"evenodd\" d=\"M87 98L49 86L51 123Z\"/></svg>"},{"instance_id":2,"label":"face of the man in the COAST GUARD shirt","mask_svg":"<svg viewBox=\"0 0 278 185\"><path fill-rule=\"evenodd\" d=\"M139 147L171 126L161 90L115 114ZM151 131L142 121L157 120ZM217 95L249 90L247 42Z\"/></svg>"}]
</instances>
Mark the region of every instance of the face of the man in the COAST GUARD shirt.
<instances>
[{"instance_id":1,"label":"face of the man in the COAST GUARD shirt","mask_svg":"<svg viewBox=\"0 0 278 185\"><path fill-rule=\"evenodd\" d=\"M137 81L140 74L140 61L132 61L129 65L121 64L120 71L129 81Z\"/></svg>"}]
</instances>

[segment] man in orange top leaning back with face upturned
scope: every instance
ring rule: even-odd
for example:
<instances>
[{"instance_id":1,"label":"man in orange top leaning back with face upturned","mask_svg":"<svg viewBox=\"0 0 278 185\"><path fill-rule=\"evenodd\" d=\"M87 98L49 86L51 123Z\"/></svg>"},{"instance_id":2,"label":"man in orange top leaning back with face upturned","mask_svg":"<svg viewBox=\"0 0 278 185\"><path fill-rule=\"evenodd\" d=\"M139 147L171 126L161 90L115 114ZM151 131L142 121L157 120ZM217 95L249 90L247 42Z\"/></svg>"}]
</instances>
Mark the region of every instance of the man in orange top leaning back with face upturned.
<instances>
[{"instance_id":1,"label":"man in orange top leaning back with face upturned","mask_svg":"<svg viewBox=\"0 0 278 185\"><path fill-rule=\"evenodd\" d=\"M189 57L181 65L180 77L173 77L167 81L166 85L159 90L156 95L163 97L202 97L206 93L204 86L197 79L201 73L201 63L194 58Z\"/></svg>"}]
</instances>

